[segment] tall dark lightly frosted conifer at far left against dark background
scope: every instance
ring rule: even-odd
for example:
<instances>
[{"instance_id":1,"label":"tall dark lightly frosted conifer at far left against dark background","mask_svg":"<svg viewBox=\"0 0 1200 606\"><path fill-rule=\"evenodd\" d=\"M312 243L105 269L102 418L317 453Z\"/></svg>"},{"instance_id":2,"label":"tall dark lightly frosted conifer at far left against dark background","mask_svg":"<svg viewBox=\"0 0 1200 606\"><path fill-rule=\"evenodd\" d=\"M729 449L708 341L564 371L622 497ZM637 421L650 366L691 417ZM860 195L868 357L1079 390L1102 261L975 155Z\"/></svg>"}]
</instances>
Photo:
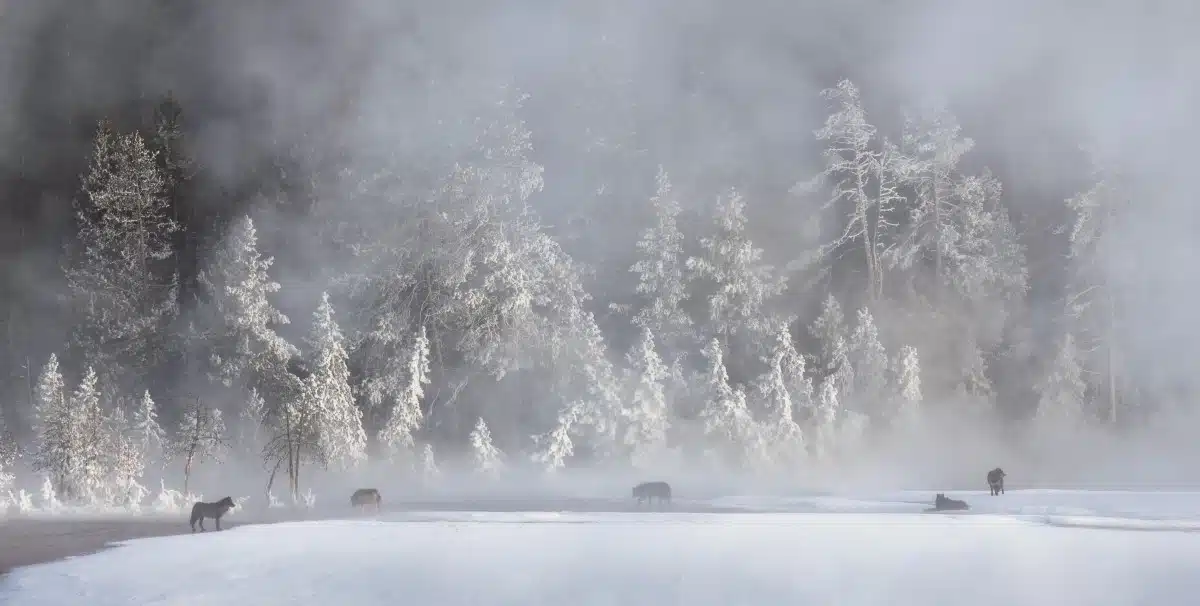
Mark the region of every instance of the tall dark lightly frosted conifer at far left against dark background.
<instances>
[{"instance_id":1,"label":"tall dark lightly frosted conifer at far left against dark background","mask_svg":"<svg viewBox=\"0 0 1200 606\"><path fill-rule=\"evenodd\" d=\"M170 347L167 329L178 314L172 238L179 224L164 186L140 134L100 124L77 204L82 254L66 274L83 318L74 346L106 384L145 382Z\"/></svg>"}]
</instances>

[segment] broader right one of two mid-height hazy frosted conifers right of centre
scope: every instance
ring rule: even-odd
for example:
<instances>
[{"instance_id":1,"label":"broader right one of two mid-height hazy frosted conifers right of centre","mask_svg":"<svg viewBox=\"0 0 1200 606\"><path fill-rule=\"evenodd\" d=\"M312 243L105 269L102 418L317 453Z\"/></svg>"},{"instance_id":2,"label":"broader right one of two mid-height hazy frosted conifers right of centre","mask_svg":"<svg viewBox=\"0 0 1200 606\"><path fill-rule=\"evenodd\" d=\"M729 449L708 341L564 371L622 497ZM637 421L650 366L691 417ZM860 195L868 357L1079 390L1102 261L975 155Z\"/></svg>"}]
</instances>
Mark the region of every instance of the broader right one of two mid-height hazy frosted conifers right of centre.
<instances>
[{"instance_id":1,"label":"broader right one of two mid-height hazy frosted conifers right of centre","mask_svg":"<svg viewBox=\"0 0 1200 606\"><path fill-rule=\"evenodd\" d=\"M746 234L745 199L731 191L718 199L715 233L700 241L704 253L688 259L692 278L712 282L708 296L709 338L725 347L749 347L761 354L779 322L769 304L787 286L784 277L762 259ZM733 341L738 338L739 342Z\"/></svg>"}]
</instances>

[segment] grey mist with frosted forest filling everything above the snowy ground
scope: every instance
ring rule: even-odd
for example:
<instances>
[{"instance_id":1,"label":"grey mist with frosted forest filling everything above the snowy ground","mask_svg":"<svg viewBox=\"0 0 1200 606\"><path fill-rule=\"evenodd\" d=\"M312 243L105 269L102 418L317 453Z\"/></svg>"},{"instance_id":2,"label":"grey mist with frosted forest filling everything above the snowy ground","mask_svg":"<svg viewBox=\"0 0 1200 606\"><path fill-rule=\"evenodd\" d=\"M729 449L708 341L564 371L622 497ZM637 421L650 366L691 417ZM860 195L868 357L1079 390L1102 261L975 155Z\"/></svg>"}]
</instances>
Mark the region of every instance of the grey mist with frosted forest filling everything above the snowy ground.
<instances>
[{"instance_id":1,"label":"grey mist with frosted forest filling everything above the snowy ground","mask_svg":"<svg viewBox=\"0 0 1200 606\"><path fill-rule=\"evenodd\" d=\"M0 0L0 499L1194 482L1196 23Z\"/></svg>"}]
</instances>

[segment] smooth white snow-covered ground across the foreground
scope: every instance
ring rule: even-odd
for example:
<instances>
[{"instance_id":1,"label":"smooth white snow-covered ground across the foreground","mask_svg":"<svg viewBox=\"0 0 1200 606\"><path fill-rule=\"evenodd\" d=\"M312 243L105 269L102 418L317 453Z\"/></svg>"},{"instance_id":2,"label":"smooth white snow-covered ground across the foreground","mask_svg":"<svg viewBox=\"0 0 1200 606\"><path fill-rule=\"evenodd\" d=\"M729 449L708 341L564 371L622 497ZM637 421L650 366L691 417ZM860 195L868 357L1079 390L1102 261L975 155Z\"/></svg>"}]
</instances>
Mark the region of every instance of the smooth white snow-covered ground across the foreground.
<instances>
[{"instance_id":1,"label":"smooth white snow-covered ground across the foreground","mask_svg":"<svg viewBox=\"0 0 1200 606\"><path fill-rule=\"evenodd\" d=\"M665 512L413 511L128 541L0 604L1184 605L1200 492L727 497ZM743 512L695 512L720 505Z\"/></svg>"}]
</instances>

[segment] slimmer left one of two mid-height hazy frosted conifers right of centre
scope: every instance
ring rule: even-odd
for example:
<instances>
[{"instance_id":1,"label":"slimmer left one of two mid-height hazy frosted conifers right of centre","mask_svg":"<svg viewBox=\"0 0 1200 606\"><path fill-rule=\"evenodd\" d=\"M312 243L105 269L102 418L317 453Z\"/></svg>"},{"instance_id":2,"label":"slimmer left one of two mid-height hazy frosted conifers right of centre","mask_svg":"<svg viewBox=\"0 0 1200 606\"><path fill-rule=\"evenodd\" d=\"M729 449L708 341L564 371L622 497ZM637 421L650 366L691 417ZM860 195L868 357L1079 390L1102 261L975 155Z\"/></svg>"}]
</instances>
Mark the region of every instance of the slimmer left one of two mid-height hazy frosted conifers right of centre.
<instances>
[{"instance_id":1,"label":"slimmer left one of two mid-height hazy frosted conifers right of centre","mask_svg":"<svg viewBox=\"0 0 1200 606\"><path fill-rule=\"evenodd\" d=\"M642 232L637 242L640 259L630 271L637 274L637 293L646 304L634 314L634 324L649 330L667 352L683 352L691 344L691 318L680 307L688 298L684 275L683 232L679 230L679 202L662 167L650 204L655 224Z\"/></svg>"}]
</instances>

